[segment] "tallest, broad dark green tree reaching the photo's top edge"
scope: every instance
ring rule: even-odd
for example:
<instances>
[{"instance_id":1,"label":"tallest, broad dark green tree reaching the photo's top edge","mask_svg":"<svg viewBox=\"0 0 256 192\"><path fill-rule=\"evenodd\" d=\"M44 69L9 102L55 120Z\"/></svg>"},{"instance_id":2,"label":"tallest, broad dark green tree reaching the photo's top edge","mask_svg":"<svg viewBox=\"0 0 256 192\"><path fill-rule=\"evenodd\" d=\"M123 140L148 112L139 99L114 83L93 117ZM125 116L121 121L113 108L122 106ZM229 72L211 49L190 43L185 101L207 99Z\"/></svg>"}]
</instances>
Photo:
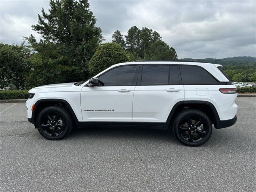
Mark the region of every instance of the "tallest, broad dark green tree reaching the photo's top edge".
<instances>
[{"instance_id":1,"label":"tallest, broad dark green tree reaching the photo's top edge","mask_svg":"<svg viewBox=\"0 0 256 192\"><path fill-rule=\"evenodd\" d=\"M35 51L29 61L32 70L27 82L32 82L36 74L39 76L37 85L86 78L86 66L103 40L87 0L50 0L49 13L42 8L38 24L32 25L32 29L42 39L36 42L32 35L26 38ZM39 63L44 68L38 67ZM64 76L60 77L58 70L52 70L54 68L61 68ZM46 78L49 72L55 77Z\"/></svg>"}]
</instances>

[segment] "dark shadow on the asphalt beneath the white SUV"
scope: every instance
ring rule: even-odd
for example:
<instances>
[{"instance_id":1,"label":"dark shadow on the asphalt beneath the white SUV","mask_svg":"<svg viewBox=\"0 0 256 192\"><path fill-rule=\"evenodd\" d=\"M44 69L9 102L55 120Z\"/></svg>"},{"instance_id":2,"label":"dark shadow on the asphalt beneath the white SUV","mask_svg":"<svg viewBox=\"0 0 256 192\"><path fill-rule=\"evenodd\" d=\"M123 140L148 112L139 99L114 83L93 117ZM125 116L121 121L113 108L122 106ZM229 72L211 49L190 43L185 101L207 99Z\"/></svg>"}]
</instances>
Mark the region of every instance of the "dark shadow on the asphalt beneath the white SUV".
<instances>
[{"instance_id":1,"label":"dark shadow on the asphalt beneath the white SUV","mask_svg":"<svg viewBox=\"0 0 256 192\"><path fill-rule=\"evenodd\" d=\"M223 133L224 132L224 133ZM216 130L213 128L212 136L202 146L199 147L226 147L236 146L237 140L236 134L230 136L230 130ZM240 136L241 137L241 136ZM129 139L129 140L148 140L172 143L175 145L182 145L172 133L172 130L159 130L153 128L140 128L140 127L90 127L90 128L74 128L74 130L64 139L76 140L76 139ZM184 146L184 145L182 145ZM185 146L186 147L186 146Z\"/></svg>"}]
</instances>

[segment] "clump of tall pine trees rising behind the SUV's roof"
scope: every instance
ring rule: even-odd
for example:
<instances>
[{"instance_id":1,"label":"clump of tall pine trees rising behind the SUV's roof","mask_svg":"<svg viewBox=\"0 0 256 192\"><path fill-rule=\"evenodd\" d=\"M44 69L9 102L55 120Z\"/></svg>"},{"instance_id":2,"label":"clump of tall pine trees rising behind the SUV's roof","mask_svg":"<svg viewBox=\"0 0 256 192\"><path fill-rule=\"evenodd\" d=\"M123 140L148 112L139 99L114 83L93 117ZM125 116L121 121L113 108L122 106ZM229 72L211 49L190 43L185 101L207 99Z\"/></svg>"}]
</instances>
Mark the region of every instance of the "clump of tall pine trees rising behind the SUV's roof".
<instances>
[{"instance_id":1,"label":"clump of tall pine trees rising behind the SUV's roof","mask_svg":"<svg viewBox=\"0 0 256 192\"><path fill-rule=\"evenodd\" d=\"M116 30L112 35L112 42L120 44L131 60L178 59L175 49L170 48L162 41L160 34L152 29L143 27L140 30L132 26L124 37L125 41L121 32Z\"/></svg>"}]
</instances>

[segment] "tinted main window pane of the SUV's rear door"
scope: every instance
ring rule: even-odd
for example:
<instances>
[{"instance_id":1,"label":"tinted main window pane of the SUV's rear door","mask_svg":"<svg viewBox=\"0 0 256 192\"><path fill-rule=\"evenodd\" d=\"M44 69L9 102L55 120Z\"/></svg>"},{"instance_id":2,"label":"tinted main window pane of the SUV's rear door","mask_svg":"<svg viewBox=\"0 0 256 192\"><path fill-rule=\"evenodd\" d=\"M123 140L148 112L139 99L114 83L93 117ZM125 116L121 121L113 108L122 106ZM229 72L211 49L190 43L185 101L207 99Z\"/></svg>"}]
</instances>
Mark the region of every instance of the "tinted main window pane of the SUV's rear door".
<instances>
[{"instance_id":1,"label":"tinted main window pane of the SUV's rear door","mask_svg":"<svg viewBox=\"0 0 256 192\"><path fill-rule=\"evenodd\" d=\"M143 65L141 85L167 85L168 65Z\"/></svg>"}]
</instances>

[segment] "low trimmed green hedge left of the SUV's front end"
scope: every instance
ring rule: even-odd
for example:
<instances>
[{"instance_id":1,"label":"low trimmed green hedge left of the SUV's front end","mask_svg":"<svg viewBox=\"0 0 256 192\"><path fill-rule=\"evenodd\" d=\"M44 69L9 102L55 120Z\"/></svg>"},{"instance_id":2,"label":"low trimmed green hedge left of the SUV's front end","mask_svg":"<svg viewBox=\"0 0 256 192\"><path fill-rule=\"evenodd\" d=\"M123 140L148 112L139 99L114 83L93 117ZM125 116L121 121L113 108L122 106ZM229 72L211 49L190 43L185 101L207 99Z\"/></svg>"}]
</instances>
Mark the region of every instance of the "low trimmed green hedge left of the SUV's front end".
<instances>
[{"instance_id":1,"label":"low trimmed green hedge left of the SUV's front end","mask_svg":"<svg viewBox=\"0 0 256 192\"><path fill-rule=\"evenodd\" d=\"M28 90L6 90L0 91L0 99L27 99Z\"/></svg>"}]
</instances>

